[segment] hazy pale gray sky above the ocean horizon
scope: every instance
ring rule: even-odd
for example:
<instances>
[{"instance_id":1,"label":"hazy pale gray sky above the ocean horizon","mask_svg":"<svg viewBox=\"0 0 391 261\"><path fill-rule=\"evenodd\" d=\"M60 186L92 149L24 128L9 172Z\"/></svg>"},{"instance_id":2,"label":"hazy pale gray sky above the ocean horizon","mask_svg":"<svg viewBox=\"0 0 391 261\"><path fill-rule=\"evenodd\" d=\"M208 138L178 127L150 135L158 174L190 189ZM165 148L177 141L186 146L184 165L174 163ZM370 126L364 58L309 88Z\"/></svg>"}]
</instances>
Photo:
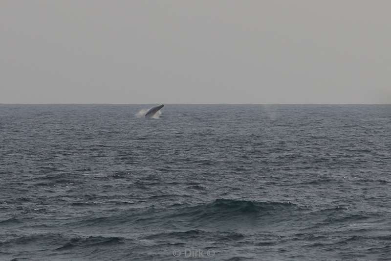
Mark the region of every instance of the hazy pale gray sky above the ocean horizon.
<instances>
[{"instance_id":1,"label":"hazy pale gray sky above the ocean horizon","mask_svg":"<svg viewBox=\"0 0 391 261\"><path fill-rule=\"evenodd\" d=\"M0 103L391 103L390 0L1 0Z\"/></svg>"}]
</instances>

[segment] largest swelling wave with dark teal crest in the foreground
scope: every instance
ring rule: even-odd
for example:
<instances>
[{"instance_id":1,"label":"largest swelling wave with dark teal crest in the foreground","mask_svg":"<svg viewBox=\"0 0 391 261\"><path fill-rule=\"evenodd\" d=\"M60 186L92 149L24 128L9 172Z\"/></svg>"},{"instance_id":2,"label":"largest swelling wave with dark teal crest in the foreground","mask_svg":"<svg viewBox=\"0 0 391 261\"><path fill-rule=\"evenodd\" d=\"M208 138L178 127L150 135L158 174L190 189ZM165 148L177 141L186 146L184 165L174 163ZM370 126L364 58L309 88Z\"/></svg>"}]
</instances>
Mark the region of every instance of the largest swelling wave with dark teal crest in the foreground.
<instances>
[{"instance_id":1,"label":"largest swelling wave with dark teal crest in the foreground","mask_svg":"<svg viewBox=\"0 0 391 261\"><path fill-rule=\"evenodd\" d=\"M84 217L82 220L72 221L67 226L89 227L104 224L106 227L110 227L129 224L141 227L172 228L180 226L199 229L209 226L225 226L228 223L232 226L246 225L249 219L253 221L250 222L252 225L258 221L260 224L273 223L301 210L302 207L293 203L216 199L212 203L195 206L174 204L169 208L163 208L152 205L122 211L116 215L99 217L91 215L90 218Z\"/></svg>"}]
</instances>

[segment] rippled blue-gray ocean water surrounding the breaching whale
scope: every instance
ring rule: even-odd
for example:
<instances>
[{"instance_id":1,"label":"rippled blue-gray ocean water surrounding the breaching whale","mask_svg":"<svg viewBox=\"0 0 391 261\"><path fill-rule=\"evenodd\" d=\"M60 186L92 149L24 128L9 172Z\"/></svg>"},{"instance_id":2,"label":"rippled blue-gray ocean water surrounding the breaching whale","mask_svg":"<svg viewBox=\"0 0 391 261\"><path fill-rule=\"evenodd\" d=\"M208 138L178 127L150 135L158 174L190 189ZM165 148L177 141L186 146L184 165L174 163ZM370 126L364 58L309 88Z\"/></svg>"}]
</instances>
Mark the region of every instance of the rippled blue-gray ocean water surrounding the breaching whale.
<instances>
[{"instance_id":1,"label":"rippled blue-gray ocean water surrounding the breaching whale","mask_svg":"<svg viewBox=\"0 0 391 261\"><path fill-rule=\"evenodd\" d=\"M0 105L0 260L391 260L391 105L148 107Z\"/></svg>"}]
</instances>

